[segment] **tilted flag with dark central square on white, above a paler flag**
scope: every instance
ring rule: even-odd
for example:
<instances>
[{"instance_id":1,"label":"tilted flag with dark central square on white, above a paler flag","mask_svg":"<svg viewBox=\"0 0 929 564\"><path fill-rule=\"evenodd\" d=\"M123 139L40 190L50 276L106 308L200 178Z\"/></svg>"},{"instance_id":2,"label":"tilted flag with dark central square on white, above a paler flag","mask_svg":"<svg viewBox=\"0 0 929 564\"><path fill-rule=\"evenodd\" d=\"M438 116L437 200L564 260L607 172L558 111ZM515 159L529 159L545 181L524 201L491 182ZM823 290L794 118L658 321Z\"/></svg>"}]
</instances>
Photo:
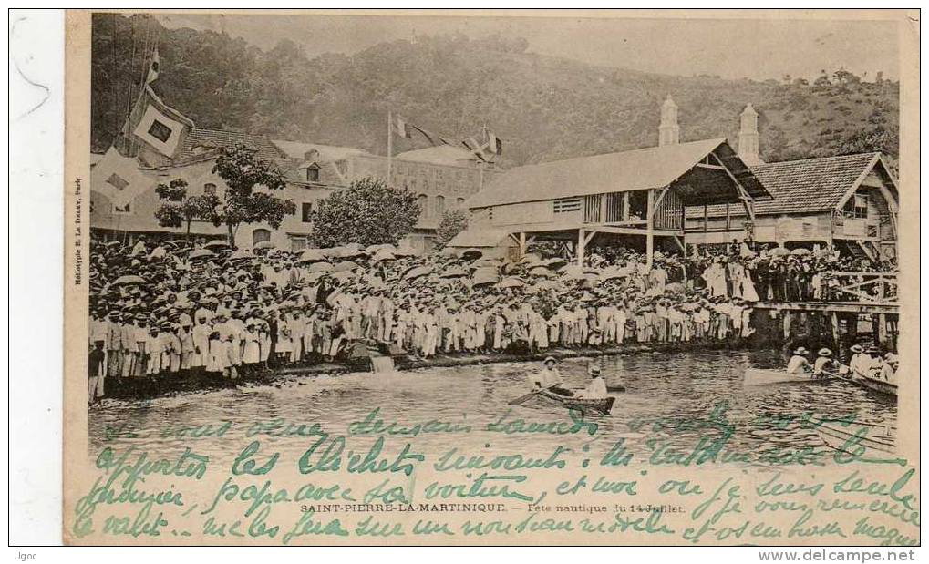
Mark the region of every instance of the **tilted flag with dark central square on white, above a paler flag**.
<instances>
[{"instance_id":1,"label":"tilted flag with dark central square on white, above a paler flag","mask_svg":"<svg viewBox=\"0 0 929 564\"><path fill-rule=\"evenodd\" d=\"M124 133L131 133L165 157L173 158L181 137L192 128L190 119L165 104L149 85L145 85L126 121Z\"/></svg>"}]
</instances>

